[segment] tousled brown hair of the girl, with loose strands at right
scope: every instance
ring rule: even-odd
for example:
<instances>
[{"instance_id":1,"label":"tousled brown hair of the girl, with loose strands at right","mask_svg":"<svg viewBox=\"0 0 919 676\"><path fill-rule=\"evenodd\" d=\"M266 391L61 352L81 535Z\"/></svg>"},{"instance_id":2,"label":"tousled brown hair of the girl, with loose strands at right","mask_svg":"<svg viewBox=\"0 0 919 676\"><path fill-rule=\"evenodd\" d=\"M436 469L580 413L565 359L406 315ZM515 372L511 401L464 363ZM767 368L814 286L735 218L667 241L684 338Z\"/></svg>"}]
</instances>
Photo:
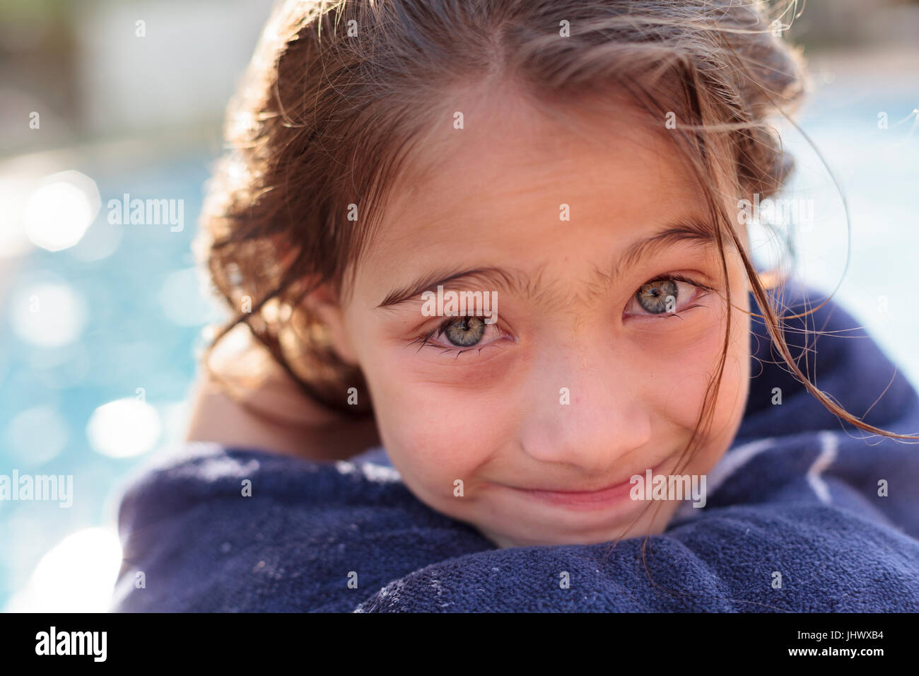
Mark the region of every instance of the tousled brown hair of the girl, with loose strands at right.
<instances>
[{"instance_id":1,"label":"tousled brown hair of the girl, with loose strands at right","mask_svg":"<svg viewBox=\"0 0 919 676\"><path fill-rule=\"evenodd\" d=\"M784 338L784 322L803 315L777 311L770 292L782 279L757 274L725 206L725 196L773 195L789 177L789 157L768 120L793 110L805 90L797 52L777 36L796 7L738 0L278 6L229 109L228 152L202 215L200 251L235 314L214 343L246 325L304 394L344 416L372 415L369 396L346 404L348 388L366 391L363 378L335 355L304 299L323 283L346 293L388 187L425 132L443 123L448 93L503 80L535 106L576 109L625 92L658 129L673 114L671 138L703 188L725 280L724 249L735 247L790 371L846 422L914 439L868 425L811 384ZM354 208L357 222L347 218ZM686 458L714 413L730 315Z\"/></svg>"}]
</instances>

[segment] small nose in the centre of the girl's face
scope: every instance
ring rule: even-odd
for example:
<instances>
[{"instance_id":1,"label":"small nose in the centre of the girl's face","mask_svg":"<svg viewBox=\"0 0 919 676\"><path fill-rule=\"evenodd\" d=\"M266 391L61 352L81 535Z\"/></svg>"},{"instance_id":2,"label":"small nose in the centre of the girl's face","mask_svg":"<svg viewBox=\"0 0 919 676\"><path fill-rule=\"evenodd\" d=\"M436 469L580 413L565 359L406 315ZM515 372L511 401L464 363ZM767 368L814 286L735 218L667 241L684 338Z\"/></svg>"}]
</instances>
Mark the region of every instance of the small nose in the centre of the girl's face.
<instances>
[{"instance_id":1,"label":"small nose in the centre of the girl's face","mask_svg":"<svg viewBox=\"0 0 919 676\"><path fill-rule=\"evenodd\" d=\"M539 355L526 384L524 453L584 476L614 479L628 471L622 458L650 441L652 412L641 395L640 366L615 347L598 331Z\"/></svg>"}]
</instances>

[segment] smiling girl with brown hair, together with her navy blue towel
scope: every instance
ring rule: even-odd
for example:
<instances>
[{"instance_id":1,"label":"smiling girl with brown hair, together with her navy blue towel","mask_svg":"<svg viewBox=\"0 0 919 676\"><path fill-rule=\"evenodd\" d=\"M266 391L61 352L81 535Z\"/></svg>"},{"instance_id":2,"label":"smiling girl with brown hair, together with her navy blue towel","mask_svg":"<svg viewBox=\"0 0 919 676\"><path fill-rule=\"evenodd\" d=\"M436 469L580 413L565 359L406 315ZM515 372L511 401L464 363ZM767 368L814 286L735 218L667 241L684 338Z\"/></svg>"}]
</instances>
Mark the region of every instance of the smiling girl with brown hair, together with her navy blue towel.
<instances>
[{"instance_id":1,"label":"smiling girl with brown hair, together with her navy blue towel","mask_svg":"<svg viewBox=\"0 0 919 676\"><path fill-rule=\"evenodd\" d=\"M913 388L751 260L777 10L281 6L203 216L219 445L130 488L117 607L919 610Z\"/></svg>"}]
</instances>

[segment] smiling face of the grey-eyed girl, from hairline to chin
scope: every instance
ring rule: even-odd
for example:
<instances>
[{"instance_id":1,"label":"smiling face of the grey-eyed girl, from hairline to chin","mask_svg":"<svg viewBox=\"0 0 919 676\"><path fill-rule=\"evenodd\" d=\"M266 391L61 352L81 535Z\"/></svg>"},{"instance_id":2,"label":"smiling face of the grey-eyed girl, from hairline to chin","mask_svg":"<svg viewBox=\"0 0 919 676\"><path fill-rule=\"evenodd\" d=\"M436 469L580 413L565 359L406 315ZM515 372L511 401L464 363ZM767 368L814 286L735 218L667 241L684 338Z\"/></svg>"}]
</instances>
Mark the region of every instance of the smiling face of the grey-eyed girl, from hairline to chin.
<instances>
[{"instance_id":1,"label":"smiling face of the grey-eyed girl, from hairline to chin","mask_svg":"<svg viewBox=\"0 0 919 676\"><path fill-rule=\"evenodd\" d=\"M451 113L419 146L433 168L394 189L335 310L380 439L415 496L499 546L661 533L678 502L631 499L630 477L675 474L729 312L702 193L664 120L623 107L578 133L516 99L457 109L465 128ZM746 278L725 256L724 375L680 475L709 471L746 403ZM438 284L496 297L496 321L425 315Z\"/></svg>"}]
</instances>

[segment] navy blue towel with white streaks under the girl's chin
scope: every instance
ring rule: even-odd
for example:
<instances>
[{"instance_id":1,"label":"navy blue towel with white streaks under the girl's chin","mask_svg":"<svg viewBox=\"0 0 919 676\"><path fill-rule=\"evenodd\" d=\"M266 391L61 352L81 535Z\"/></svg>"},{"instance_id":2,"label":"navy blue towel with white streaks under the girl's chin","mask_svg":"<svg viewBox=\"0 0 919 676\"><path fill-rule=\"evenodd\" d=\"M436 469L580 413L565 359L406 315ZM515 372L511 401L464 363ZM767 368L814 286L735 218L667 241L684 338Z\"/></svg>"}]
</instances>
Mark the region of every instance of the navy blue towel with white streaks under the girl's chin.
<instances>
[{"instance_id":1,"label":"navy blue towel with white streaks under the girl's chin","mask_svg":"<svg viewBox=\"0 0 919 676\"><path fill-rule=\"evenodd\" d=\"M822 298L790 291L797 311ZM805 322L836 333L814 344L796 330ZM795 355L805 340L816 349L811 378L843 407L915 434L913 387L853 327L830 303L786 335ZM919 611L919 446L843 425L789 375L765 327L753 328L750 398L708 475L707 504L684 503L643 553L643 538L496 548L414 498L382 449L321 464L199 444L125 493L114 608Z\"/></svg>"}]
</instances>

